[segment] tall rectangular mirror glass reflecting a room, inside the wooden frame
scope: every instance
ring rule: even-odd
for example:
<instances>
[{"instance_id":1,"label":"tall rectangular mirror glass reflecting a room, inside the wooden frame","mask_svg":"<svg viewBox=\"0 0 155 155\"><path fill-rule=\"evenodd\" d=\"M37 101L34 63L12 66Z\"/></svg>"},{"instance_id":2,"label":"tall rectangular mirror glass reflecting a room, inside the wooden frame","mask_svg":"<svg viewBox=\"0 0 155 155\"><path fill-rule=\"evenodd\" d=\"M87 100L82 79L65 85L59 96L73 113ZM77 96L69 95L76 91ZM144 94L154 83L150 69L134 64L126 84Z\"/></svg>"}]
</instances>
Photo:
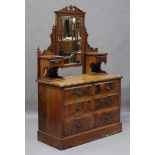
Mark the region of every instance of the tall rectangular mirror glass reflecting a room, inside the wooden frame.
<instances>
[{"instance_id":1,"label":"tall rectangular mirror glass reflecting a room, inside the wooden frame","mask_svg":"<svg viewBox=\"0 0 155 155\"><path fill-rule=\"evenodd\" d=\"M63 16L60 22L59 54L65 57L65 64L81 64L82 18Z\"/></svg>"}]
</instances>

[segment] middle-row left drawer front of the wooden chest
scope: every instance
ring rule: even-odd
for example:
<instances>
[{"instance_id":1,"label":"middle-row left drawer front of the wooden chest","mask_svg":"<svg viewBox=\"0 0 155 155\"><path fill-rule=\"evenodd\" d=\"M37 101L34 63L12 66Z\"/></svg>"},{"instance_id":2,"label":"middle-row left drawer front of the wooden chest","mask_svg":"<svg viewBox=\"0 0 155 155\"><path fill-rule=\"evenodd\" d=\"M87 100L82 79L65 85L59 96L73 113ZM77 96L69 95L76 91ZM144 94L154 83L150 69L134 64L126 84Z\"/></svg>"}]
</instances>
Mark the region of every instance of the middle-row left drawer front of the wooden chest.
<instances>
[{"instance_id":1,"label":"middle-row left drawer front of the wooden chest","mask_svg":"<svg viewBox=\"0 0 155 155\"><path fill-rule=\"evenodd\" d=\"M94 110L93 100L77 102L75 104L68 104L64 106L65 118L74 115L81 115L87 112L91 112L93 110Z\"/></svg>"}]
</instances>

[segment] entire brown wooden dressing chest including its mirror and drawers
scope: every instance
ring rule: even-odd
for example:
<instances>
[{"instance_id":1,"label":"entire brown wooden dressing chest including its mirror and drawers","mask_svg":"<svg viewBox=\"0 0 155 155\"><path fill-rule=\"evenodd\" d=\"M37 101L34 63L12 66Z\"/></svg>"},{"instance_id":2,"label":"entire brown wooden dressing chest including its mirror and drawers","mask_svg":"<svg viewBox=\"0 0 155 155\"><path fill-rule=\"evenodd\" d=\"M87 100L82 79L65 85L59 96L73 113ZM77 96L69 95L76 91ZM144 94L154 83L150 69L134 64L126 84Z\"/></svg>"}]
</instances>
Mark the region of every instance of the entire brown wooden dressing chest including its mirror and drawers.
<instances>
[{"instance_id":1,"label":"entire brown wooden dressing chest including its mirror and drawers","mask_svg":"<svg viewBox=\"0 0 155 155\"><path fill-rule=\"evenodd\" d=\"M85 12L56 11L51 45L37 49L38 140L66 149L122 130L121 78L101 69L107 53L87 42ZM59 76L59 68L82 67L81 75Z\"/></svg>"}]
</instances>

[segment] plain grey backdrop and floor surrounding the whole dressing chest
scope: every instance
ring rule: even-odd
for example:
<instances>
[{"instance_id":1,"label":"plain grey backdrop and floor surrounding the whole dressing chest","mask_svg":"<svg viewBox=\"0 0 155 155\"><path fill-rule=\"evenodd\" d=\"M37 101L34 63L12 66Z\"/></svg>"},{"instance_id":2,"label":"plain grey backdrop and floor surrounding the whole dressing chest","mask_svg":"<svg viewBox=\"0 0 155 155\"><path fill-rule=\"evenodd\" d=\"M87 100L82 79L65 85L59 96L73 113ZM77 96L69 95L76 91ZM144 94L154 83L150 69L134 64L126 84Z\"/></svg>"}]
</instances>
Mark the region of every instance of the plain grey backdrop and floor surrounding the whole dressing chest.
<instances>
[{"instance_id":1,"label":"plain grey backdrop and floor surrounding the whole dressing chest","mask_svg":"<svg viewBox=\"0 0 155 155\"><path fill-rule=\"evenodd\" d=\"M102 68L122 79L121 134L104 138L73 149L59 152L36 141L37 130L37 83L36 48L46 49L50 44L50 33L55 22L54 11L67 5L75 5L86 11L86 28L89 43L99 52L108 51L108 63ZM97 150L115 155L129 154L129 104L130 104L130 1L129 0L26 0L26 154L102 154ZM59 70L61 75L81 74L81 68ZM118 141L119 139L119 141ZM84 146L84 147L83 147ZM95 147L94 147L95 146ZM111 148L111 146L113 146ZM84 151L83 153L81 151Z\"/></svg>"}]
</instances>

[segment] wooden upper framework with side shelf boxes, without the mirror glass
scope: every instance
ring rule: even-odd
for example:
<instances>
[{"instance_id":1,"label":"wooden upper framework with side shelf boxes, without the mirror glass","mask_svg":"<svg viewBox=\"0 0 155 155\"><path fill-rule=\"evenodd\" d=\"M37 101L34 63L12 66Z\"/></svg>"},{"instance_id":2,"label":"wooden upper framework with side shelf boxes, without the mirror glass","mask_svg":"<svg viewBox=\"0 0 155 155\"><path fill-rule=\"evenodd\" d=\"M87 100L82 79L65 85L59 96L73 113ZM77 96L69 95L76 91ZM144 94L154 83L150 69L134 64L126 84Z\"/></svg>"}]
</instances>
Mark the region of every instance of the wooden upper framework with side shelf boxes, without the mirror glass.
<instances>
[{"instance_id":1,"label":"wooden upper framework with side shelf boxes, without the mirror glass","mask_svg":"<svg viewBox=\"0 0 155 155\"><path fill-rule=\"evenodd\" d=\"M38 57L38 78L45 78L45 67L79 67L82 66L82 73L91 73L91 65L97 65L98 69L97 72L102 71L101 70L101 63L104 62L107 63L107 55L108 53L98 53L98 48L93 48L88 43L88 33L85 27L85 12L80 10L77 7L73 6L70 7L71 9L68 10L68 7L65 7L63 9L60 9L59 11L55 11L55 26L52 28L51 32L51 44L50 46L44 50L40 51L38 49L37 57ZM76 59L79 61L79 63L68 63L65 64L65 56L60 56L59 51L61 51L61 46L65 46L65 49L67 51L70 51L71 49L69 46L72 46L72 44L65 45L63 42L62 45L60 45L60 42L58 41L59 35L60 35L60 26L61 23L61 17L63 16L71 16L71 17L81 17L83 19L82 26L81 26L81 37L82 37L82 45L81 45L81 52L77 53ZM52 63L51 59L62 59L59 63ZM56 76L55 76L56 77Z\"/></svg>"}]
</instances>

